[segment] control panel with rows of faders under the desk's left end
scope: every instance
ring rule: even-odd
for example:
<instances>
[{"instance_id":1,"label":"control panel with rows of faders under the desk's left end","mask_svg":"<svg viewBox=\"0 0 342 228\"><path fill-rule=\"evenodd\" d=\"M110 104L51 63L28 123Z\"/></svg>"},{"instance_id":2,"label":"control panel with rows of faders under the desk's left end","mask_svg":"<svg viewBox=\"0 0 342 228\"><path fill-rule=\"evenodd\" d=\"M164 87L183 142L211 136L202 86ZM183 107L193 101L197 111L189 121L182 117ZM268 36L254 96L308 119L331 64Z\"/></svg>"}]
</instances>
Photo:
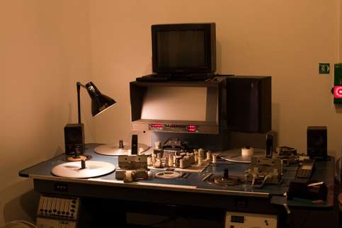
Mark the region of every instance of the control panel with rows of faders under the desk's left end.
<instances>
[{"instance_id":1,"label":"control panel with rows of faders under the desk's left end","mask_svg":"<svg viewBox=\"0 0 342 228\"><path fill-rule=\"evenodd\" d=\"M75 228L79 198L40 195L37 211L39 228Z\"/></svg>"}]
</instances>

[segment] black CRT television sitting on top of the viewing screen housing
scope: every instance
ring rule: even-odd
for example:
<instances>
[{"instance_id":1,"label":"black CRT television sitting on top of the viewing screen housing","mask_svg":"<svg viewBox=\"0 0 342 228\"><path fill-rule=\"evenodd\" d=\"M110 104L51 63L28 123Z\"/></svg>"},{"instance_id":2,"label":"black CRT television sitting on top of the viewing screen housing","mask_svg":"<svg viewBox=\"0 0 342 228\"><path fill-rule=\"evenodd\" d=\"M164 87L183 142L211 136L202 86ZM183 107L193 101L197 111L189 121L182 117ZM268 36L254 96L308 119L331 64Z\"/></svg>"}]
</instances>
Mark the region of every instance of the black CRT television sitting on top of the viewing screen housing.
<instances>
[{"instance_id":1,"label":"black CRT television sitting on top of the viewing screen housing","mask_svg":"<svg viewBox=\"0 0 342 228\"><path fill-rule=\"evenodd\" d=\"M152 68L162 74L215 72L215 23L152 25Z\"/></svg>"}]
</instances>

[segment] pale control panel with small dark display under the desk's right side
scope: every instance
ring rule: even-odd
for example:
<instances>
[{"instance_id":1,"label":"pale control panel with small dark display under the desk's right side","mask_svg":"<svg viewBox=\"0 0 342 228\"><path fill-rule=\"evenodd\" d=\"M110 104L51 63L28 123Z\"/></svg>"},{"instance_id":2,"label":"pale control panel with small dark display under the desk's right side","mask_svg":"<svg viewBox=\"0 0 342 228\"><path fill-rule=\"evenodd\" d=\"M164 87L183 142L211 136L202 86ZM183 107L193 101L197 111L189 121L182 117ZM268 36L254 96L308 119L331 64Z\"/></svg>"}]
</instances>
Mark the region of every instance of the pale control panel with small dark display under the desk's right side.
<instances>
[{"instance_id":1,"label":"pale control panel with small dark display under the desk's right side","mask_svg":"<svg viewBox=\"0 0 342 228\"><path fill-rule=\"evenodd\" d=\"M226 212L224 228L277 228L277 215Z\"/></svg>"}]
</instances>

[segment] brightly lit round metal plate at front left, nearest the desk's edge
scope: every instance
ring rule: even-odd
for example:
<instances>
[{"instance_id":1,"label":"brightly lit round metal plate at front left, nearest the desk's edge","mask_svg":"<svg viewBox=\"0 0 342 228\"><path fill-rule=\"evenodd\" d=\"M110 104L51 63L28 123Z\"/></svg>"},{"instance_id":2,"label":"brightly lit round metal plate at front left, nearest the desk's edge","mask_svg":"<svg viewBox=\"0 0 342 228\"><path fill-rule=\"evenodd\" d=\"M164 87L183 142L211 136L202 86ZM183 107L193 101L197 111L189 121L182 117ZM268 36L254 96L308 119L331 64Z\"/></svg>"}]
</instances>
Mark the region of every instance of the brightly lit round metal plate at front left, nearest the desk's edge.
<instances>
[{"instance_id":1,"label":"brightly lit round metal plate at front left, nearest the desk's edge","mask_svg":"<svg viewBox=\"0 0 342 228\"><path fill-rule=\"evenodd\" d=\"M81 169L81 161L59 164L52 169L52 174L67 178L91 178L115 171L115 166L106 161L86 161L86 168Z\"/></svg>"}]
</instances>

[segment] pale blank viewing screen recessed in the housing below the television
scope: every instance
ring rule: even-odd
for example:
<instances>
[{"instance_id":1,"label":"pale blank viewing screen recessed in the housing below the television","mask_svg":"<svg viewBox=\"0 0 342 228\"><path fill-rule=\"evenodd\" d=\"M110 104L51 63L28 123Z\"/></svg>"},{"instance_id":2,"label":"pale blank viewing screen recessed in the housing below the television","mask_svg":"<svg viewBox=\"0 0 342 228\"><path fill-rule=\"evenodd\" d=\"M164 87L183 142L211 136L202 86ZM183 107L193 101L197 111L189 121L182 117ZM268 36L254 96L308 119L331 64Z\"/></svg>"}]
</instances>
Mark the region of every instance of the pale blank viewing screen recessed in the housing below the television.
<instances>
[{"instance_id":1,"label":"pale blank viewing screen recessed in the housing below the television","mask_svg":"<svg viewBox=\"0 0 342 228\"><path fill-rule=\"evenodd\" d=\"M207 88L157 86L147 89L141 117L144 120L205 121L206 113Z\"/></svg>"}]
</instances>

